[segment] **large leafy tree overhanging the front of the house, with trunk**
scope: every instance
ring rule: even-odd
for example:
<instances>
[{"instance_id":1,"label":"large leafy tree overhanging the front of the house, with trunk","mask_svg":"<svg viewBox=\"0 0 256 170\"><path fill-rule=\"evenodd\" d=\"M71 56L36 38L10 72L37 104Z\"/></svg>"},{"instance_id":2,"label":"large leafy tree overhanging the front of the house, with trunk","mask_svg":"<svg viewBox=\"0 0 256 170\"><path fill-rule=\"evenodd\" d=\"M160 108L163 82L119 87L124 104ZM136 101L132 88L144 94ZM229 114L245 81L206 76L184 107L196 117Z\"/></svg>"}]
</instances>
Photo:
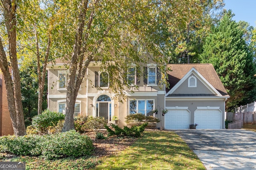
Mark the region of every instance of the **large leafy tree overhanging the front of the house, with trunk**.
<instances>
[{"instance_id":1,"label":"large leafy tree overhanging the front of the house, with trunk","mask_svg":"<svg viewBox=\"0 0 256 170\"><path fill-rule=\"evenodd\" d=\"M100 61L102 69L108 68L109 76L115 81L110 88L117 97L122 97L124 70L129 64L141 65L154 61L165 71L169 49L178 30L189 18L199 17L205 0L80 0L62 1L64 16L59 33L66 41L64 59L68 65L66 117L62 131L74 128L74 104L78 89L85 78L91 61ZM193 6L193 8L187 8ZM71 17L70 17L71 16ZM70 20L71 18L71 20ZM74 28L76 28L74 30ZM71 40L71 41L70 41ZM132 42L132 43L131 43ZM68 47L73 43L73 49ZM136 47L140 50L134 50ZM142 53L145 51L146 53ZM72 51L72 52L70 52ZM160 51L162 53L160 53ZM139 57L140 56L140 57ZM165 80L165 74L162 78Z\"/></svg>"}]
</instances>

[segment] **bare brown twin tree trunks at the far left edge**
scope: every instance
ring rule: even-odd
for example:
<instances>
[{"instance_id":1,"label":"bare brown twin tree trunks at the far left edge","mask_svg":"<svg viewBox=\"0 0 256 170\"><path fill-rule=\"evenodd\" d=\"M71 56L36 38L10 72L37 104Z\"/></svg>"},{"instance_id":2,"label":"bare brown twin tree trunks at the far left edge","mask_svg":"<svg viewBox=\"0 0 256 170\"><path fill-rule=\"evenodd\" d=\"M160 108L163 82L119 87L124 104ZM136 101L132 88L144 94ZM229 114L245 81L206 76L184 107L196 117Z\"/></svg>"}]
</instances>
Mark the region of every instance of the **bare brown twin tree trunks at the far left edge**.
<instances>
[{"instance_id":1,"label":"bare brown twin tree trunks at the far left edge","mask_svg":"<svg viewBox=\"0 0 256 170\"><path fill-rule=\"evenodd\" d=\"M16 0L1 0L1 18L4 19L8 35L8 54L4 50L2 43L3 37L0 37L0 69L5 77L8 110L12 120L12 127L16 136L26 134L24 116L22 109L22 100L20 92L20 73L16 52ZM12 73L9 71L9 61Z\"/></svg>"}]
</instances>

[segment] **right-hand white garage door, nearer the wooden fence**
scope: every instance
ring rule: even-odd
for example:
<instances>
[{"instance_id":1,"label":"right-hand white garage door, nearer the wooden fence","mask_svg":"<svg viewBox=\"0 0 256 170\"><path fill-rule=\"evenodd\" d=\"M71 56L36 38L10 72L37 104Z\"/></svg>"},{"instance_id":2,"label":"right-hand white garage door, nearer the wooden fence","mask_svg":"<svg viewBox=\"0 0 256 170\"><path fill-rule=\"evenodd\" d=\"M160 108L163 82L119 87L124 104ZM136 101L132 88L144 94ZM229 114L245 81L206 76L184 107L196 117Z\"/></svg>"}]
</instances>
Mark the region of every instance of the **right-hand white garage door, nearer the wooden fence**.
<instances>
[{"instance_id":1,"label":"right-hand white garage door, nearer the wooden fence","mask_svg":"<svg viewBox=\"0 0 256 170\"><path fill-rule=\"evenodd\" d=\"M222 122L220 110L198 109L195 111L194 123L201 129L220 129Z\"/></svg>"}]
</instances>

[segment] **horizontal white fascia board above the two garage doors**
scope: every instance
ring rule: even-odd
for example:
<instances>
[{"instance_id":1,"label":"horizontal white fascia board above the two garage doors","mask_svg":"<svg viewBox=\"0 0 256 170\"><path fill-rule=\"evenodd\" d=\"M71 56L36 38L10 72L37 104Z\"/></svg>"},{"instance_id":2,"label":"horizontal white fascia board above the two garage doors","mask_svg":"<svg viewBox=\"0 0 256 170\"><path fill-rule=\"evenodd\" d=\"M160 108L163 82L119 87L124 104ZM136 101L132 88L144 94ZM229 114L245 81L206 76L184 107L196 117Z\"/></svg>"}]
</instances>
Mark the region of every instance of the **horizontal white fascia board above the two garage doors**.
<instances>
[{"instance_id":1,"label":"horizontal white fascia board above the two garage doors","mask_svg":"<svg viewBox=\"0 0 256 170\"><path fill-rule=\"evenodd\" d=\"M217 100L226 100L226 96L217 96L217 97L209 97L209 96L195 96L195 97L165 97L166 101L187 101L187 100L194 100L194 101L200 101L200 100L205 100L205 101L217 101Z\"/></svg>"}]
</instances>

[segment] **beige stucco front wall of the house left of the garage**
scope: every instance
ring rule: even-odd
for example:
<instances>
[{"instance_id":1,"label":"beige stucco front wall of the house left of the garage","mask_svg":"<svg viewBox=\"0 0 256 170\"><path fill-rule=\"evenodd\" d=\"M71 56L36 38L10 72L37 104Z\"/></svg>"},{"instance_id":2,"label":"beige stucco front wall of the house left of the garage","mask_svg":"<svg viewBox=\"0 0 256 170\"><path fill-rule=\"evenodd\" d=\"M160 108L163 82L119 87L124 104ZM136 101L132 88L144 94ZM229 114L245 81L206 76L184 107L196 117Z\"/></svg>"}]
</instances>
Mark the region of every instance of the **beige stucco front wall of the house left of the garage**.
<instances>
[{"instance_id":1,"label":"beige stucco front wall of the house left of the garage","mask_svg":"<svg viewBox=\"0 0 256 170\"><path fill-rule=\"evenodd\" d=\"M143 69L143 67L141 68ZM56 63L55 65L48 65L48 109L51 111L61 111L60 103L66 103L66 89L60 89L60 73L65 73L64 65L61 63ZM112 121L113 116L118 117L118 126L126 126L125 118L129 114L130 100L140 100L147 102L150 100L152 109L164 108L165 107L165 88L161 88L157 83L155 85L145 85L144 77L137 77L140 79L140 83L136 84L138 90L132 92L131 87L124 87L124 93L126 93L126 98L122 99L120 102L115 98L115 94L108 87L95 87L95 79L98 76L100 79L100 67L95 63L91 63L86 71L86 79L81 84L81 90L78 91L78 96L76 98L76 103L80 105L80 114L91 115L93 117L102 116L101 112L108 112L108 115L103 115L105 119L108 119L108 123L114 123ZM102 96L109 97L108 101L106 99L100 99ZM146 105L146 104L145 104ZM147 107L147 106L145 106ZM137 109L138 110L138 109ZM145 110L147 110L145 108ZM63 111L64 112L64 111ZM155 115L160 118L160 114ZM160 127L157 125L157 127Z\"/></svg>"}]
</instances>

